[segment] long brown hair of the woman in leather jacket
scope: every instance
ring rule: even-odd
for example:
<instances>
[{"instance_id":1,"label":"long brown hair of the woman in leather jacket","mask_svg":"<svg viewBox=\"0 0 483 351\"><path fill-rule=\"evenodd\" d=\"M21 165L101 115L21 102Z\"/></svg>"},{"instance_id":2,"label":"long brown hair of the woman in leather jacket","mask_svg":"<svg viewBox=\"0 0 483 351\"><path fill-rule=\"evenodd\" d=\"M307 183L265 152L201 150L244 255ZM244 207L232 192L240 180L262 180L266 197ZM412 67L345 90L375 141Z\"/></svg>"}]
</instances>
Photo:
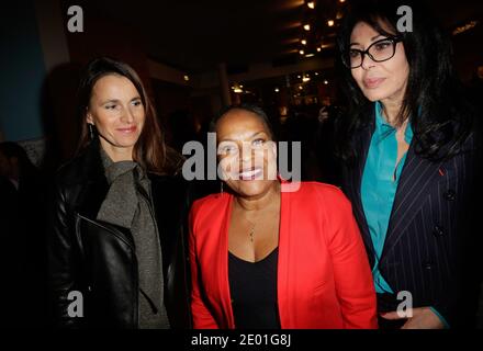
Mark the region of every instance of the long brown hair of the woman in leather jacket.
<instances>
[{"instance_id":1,"label":"long brown hair of the woman in leather jacket","mask_svg":"<svg viewBox=\"0 0 483 351\"><path fill-rule=\"evenodd\" d=\"M139 76L127 64L109 57L100 57L91 60L80 80L77 93L77 115L81 121L78 152L83 150L90 143L86 114L92 95L92 89L99 79L109 75L127 78L139 93L145 109L146 120L141 136L133 148L133 160L153 173L176 173L180 168L182 158L166 145L156 116L156 110L146 93L146 89Z\"/></svg>"}]
</instances>

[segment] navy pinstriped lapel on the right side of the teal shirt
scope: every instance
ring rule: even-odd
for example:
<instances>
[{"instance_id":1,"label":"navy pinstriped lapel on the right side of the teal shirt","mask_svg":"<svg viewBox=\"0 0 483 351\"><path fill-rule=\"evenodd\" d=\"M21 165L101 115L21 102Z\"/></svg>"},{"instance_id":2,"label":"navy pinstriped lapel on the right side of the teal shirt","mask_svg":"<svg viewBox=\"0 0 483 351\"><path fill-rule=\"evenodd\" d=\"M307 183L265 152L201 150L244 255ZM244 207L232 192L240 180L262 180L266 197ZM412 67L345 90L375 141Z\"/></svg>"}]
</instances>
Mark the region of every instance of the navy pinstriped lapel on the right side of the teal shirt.
<instances>
[{"instance_id":1,"label":"navy pinstriped lapel on the right side of the teal shirt","mask_svg":"<svg viewBox=\"0 0 483 351\"><path fill-rule=\"evenodd\" d=\"M430 191L430 185L439 178L440 166L441 162L431 162L415 155L414 143L411 144L394 196L381 261L397 244L420 206L424 205L424 199Z\"/></svg>"}]
</instances>

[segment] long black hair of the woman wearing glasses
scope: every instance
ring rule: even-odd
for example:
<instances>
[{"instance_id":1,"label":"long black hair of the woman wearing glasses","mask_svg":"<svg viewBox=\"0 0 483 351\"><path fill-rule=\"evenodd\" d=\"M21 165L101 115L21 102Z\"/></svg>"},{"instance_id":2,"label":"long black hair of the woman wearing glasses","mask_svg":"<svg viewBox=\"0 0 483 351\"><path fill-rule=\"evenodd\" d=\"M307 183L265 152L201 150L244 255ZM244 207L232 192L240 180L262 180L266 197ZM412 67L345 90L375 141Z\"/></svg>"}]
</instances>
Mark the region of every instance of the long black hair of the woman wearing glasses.
<instances>
[{"instance_id":1,"label":"long black hair of the woman wearing glasses","mask_svg":"<svg viewBox=\"0 0 483 351\"><path fill-rule=\"evenodd\" d=\"M397 31L401 20L397 9L402 5L413 11L412 32ZM431 160L458 154L471 131L472 109L463 99L462 86L453 69L449 35L441 31L422 1L364 0L352 3L337 37L336 68L348 100L345 118L339 121L339 133L345 134L341 140L348 143L341 145L339 156L346 161L353 160L357 156L352 144L355 132L372 123L373 104L362 94L342 59L348 55L350 35L359 22L371 25L382 35L402 38L409 77L397 124L409 118L416 154ZM392 33L383 29L384 24Z\"/></svg>"}]
</instances>

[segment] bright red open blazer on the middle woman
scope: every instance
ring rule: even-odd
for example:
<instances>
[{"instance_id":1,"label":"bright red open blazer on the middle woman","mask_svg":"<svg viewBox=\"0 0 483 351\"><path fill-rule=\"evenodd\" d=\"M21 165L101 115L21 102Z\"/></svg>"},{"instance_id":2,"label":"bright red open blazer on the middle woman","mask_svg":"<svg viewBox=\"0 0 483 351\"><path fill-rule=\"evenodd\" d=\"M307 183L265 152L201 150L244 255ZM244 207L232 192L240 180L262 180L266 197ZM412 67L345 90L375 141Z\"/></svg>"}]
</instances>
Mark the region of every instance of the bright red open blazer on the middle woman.
<instances>
[{"instance_id":1,"label":"bright red open blazer on the middle woman","mask_svg":"<svg viewBox=\"0 0 483 351\"><path fill-rule=\"evenodd\" d=\"M209 195L194 202L191 210L191 307L198 329L236 327L228 283L233 199L228 193ZM282 191L280 217L281 327L377 328L372 274L342 192L332 185L303 182L296 192Z\"/></svg>"}]
</instances>

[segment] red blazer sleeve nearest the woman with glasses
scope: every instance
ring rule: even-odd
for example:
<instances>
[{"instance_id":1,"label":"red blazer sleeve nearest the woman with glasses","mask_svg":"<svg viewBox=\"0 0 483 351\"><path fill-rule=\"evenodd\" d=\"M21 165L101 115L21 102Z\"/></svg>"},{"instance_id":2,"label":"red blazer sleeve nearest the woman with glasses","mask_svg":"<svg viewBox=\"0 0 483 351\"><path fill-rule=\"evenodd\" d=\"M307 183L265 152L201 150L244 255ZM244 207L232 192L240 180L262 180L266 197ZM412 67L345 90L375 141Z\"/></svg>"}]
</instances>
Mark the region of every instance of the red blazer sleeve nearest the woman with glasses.
<instances>
[{"instance_id":1,"label":"red blazer sleeve nearest the woman with glasses","mask_svg":"<svg viewBox=\"0 0 483 351\"><path fill-rule=\"evenodd\" d=\"M374 284L362 238L349 201L341 192L334 195L325 208L337 208L327 214L328 247L345 328L378 328Z\"/></svg>"}]
</instances>

